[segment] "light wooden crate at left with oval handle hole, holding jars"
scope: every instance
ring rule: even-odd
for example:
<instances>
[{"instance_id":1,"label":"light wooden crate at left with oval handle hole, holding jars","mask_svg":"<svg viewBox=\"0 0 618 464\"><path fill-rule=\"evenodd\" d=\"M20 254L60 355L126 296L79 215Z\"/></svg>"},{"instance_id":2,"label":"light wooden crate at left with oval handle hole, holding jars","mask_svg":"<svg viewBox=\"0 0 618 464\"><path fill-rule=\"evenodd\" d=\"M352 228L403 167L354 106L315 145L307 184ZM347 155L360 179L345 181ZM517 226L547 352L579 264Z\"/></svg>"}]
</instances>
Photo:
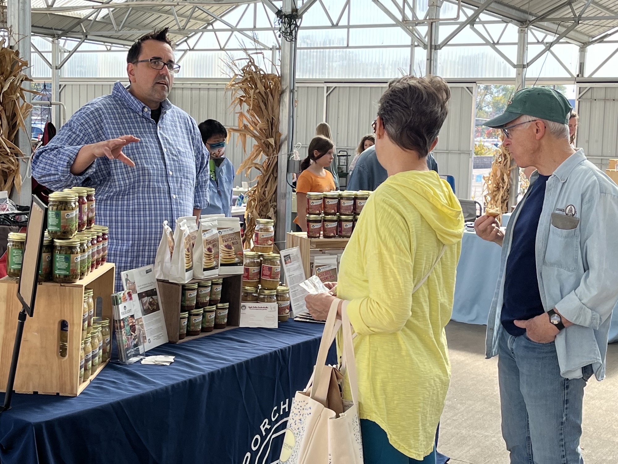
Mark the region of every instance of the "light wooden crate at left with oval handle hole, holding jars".
<instances>
[{"instance_id":1,"label":"light wooden crate at left with oval handle hole, holding jars","mask_svg":"<svg viewBox=\"0 0 618 464\"><path fill-rule=\"evenodd\" d=\"M75 397L108 363L79 382L80 344L82 339L83 292L88 287L93 298L103 299L101 316L112 320L110 295L114 293L114 265L106 263L77 283L46 282L38 285L33 317L23 327L22 346L15 373L15 392L44 393ZM17 315L22 304L17 299L18 279L0 279L0 389L6 389L13 354ZM59 354L61 321L69 323L66 358Z\"/></svg>"}]
</instances>

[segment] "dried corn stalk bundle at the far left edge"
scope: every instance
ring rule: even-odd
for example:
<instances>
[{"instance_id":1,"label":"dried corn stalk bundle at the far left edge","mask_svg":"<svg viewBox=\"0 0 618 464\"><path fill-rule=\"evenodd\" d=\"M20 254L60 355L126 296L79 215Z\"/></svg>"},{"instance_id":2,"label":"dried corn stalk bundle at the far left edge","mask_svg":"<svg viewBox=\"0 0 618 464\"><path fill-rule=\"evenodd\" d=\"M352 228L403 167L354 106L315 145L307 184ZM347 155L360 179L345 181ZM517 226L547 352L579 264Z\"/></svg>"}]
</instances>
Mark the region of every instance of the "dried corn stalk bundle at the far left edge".
<instances>
[{"instance_id":1,"label":"dried corn stalk bundle at the far left edge","mask_svg":"<svg viewBox=\"0 0 618 464\"><path fill-rule=\"evenodd\" d=\"M19 175L19 158L32 153L22 153L15 145L19 129L26 130L24 119L32 110L25 100L23 82L32 81L22 70L28 62L19 58L19 51L4 46L0 38L0 190L11 192L13 186L19 192L22 178Z\"/></svg>"}]
</instances>

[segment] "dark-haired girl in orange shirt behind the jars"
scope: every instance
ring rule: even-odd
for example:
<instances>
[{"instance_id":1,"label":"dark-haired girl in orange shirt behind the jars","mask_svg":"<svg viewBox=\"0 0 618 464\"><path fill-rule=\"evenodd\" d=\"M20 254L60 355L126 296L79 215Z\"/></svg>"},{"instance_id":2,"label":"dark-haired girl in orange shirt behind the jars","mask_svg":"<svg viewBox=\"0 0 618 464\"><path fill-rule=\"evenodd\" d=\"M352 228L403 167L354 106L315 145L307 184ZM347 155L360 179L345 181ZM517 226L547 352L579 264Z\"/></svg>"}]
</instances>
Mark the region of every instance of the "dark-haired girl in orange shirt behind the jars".
<instances>
[{"instance_id":1,"label":"dark-haired girl in orange shirt behind the jars","mask_svg":"<svg viewBox=\"0 0 618 464\"><path fill-rule=\"evenodd\" d=\"M307 193L330 192L336 189L332 174L325 170L333 158L332 140L316 135L309 144L308 156L300 163L301 174L296 181L297 218L294 220L303 232L307 231Z\"/></svg>"}]
</instances>

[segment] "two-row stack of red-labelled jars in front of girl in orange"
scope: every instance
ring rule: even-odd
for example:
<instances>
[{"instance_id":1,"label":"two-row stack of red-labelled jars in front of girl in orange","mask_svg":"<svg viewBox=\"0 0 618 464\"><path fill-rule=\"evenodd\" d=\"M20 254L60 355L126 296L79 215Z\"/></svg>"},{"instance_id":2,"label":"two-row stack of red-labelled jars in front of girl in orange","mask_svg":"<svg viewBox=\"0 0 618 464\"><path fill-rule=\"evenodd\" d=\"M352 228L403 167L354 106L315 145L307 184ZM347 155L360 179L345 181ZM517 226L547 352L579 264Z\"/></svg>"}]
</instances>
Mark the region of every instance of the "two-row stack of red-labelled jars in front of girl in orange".
<instances>
[{"instance_id":1,"label":"two-row stack of red-labelled jars in front of girl in orange","mask_svg":"<svg viewBox=\"0 0 618 464\"><path fill-rule=\"evenodd\" d=\"M350 238L371 192L307 194L307 238Z\"/></svg>"}]
</instances>

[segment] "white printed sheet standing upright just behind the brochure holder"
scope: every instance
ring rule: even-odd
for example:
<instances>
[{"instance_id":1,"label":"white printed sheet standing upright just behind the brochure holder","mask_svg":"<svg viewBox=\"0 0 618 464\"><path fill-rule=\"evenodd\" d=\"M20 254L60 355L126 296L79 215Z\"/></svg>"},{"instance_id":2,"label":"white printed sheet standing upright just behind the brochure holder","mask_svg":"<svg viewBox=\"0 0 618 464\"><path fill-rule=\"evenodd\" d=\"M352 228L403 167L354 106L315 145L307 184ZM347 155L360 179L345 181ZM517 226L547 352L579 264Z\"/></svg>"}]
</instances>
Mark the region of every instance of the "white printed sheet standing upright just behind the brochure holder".
<instances>
[{"instance_id":1,"label":"white printed sheet standing upright just behind the brochure holder","mask_svg":"<svg viewBox=\"0 0 618 464\"><path fill-rule=\"evenodd\" d=\"M138 317L143 319L146 351L167 343L165 317L161 310L153 265L121 272L122 286L136 296Z\"/></svg>"}]
</instances>

